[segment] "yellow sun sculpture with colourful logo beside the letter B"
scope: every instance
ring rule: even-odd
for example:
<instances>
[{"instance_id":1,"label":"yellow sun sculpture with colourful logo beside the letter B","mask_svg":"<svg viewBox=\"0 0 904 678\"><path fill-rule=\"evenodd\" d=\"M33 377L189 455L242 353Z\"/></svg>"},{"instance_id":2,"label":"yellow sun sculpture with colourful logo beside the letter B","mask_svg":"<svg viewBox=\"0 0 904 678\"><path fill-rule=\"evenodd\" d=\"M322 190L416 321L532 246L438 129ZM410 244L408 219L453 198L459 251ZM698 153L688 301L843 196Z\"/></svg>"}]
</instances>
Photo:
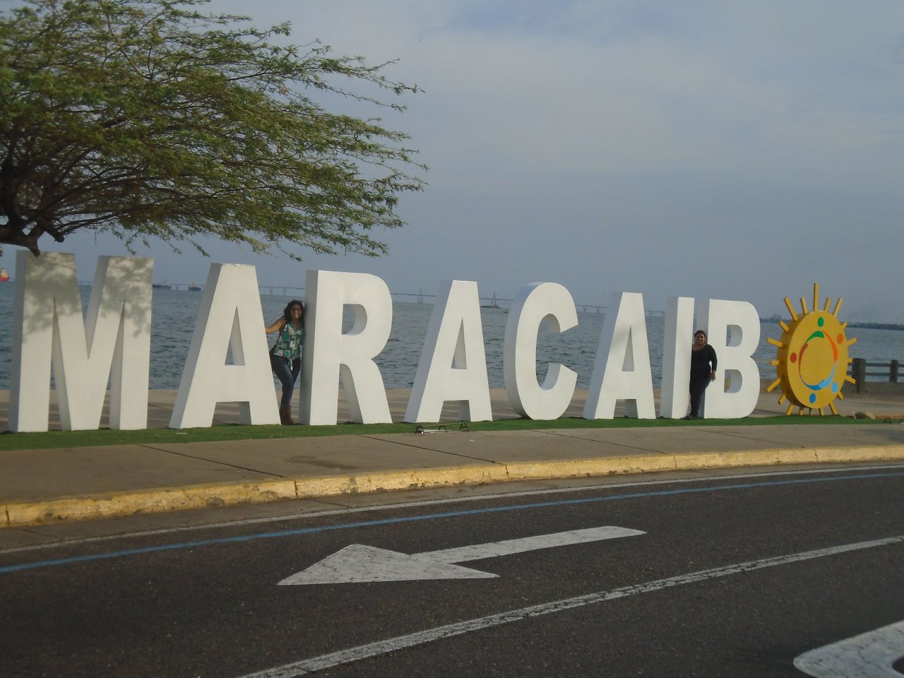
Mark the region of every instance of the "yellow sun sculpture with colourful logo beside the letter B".
<instances>
[{"instance_id":1,"label":"yellow sun sculpture with colourful logo beside the letter B","mask_svg":"<svg viewBox=\"0 0 904 678\"><path fill-rule=\"evenodd\" d=\"M784 332L781 341L769 338L769 344L778 347L776 366L778 379L766 389L772 392L781 386L782 397L779 403L789 402L787 414L797 408L797 414L810 410L813 414L828 406L833 414L833 400L843 398L842 386L845 381L854 383L848 376L848 365L852 359L848 357L848 346L856 339L847 339L844 328L847 323L838 322L838 311L842 307L842 299L838 299L832 313L829 313L830 299L825 299L823 310L819 310L819 285L813 286L813 311L808 311L804 297L800 297L803 310L797 315L791 300L785 297L785 306L791 314L791 323L779 323Z\"/></svg>"}]
</instances>

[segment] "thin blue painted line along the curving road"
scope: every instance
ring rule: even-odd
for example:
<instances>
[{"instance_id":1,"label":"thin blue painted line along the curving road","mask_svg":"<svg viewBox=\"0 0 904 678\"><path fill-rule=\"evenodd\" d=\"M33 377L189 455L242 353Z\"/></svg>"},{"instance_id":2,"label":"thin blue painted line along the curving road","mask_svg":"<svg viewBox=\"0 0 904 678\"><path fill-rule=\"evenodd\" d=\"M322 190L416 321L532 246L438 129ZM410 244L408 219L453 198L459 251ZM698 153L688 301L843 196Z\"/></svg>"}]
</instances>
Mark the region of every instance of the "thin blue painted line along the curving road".
<instances>
[{"instance_id":1,"label":"thin blue painted line along the curving road","mask_svg":"<svg viewBox=\"0 0 904 678\"><path fill-rule=\"evenodd\" d=\"M791 480L770 480L758 483L738 483L734 485L708 485L706 487L679 487L673 490L655 490L653 492L635 492L628 494L612 494L607 496L581 497L579 499L560 499L552 502L532 502L531 504L510 504L505 506L487 506L485 508L466 509L463 511L446 511L443 513L419 513L400 518L383 518L373 521L359 521L356 523L340 523L336 525L320 525L317 527L302 527L295 530L280 530L278 532L261 532L259 534L241 534L233 537L221 537L219 539L205 539L198 541L181 541L174 544L162 544L158 546L146 546L140 549L125 549L123 551L108 551L105 553L90 553L83 556L59 558L54 560L36 560L34 562L18 563L0 567L0 574L20 572L23 570L36 570L61 565L72 565L92 560L109 560L112 558L124 558L126 556L156 553L160 551L180 551L196 549L202 546L215 544L240 543L242 541L257 541L259 539L278 539L281 537L296 537L303 534L315 534L317 532L333 532L336 530L353 530L359 527L374 527L377 525L391 525L395 523L413 523L415 521L437 520L438 518L457 518L466 515L478 515L481 513L504 513L507 511L523 511L525 509L550 508L552 506L567 506L574 504L596 504L599 502L613 502L623 499L641 499L655 496L670 496L674 494L700 494L704 492L724 492L729 490L745 490L756 487L775 487L778 485L810 485L814 483L839 483L852 480L867 480L875 478L891 478L904 476L904 472L896 473L871 473L856 476L828 476L819 478L795 478ZM575 492L580 492L576 488ZM62 544L65 545L65 544Z\"/></svg>"}]
</instances>

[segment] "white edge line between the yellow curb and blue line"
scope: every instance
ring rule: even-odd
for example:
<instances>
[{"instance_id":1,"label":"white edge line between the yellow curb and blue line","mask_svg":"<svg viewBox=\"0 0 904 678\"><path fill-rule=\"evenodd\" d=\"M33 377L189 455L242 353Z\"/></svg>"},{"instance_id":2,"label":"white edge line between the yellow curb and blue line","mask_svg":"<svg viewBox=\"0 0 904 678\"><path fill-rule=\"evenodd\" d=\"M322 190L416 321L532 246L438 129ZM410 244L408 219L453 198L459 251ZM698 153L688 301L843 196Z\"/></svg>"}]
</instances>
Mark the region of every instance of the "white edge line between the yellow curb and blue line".
<instances>
[{"instance_id":1,"label":"white edge line between the yellow curb and blue line","mask_svg":"<svg viewBox=\"0 0 904 678\"><path fill-rule=\"evenodd\" d=\"M118 534L103 534L95 537L80 537L75 539L61 539L61 541L53 541L52 543L30 544L28 546L16 546L10 549L0 548L0 555L6 553L20 553L24 551L44 551L47 549L59 549L67 546L78 546L80 544L95 543L98 541L112 541L120 539L131 539L133 537L151 537L161 534L176 534L179 532L195 532L197 530L212 530L228 527L241 527L244 525L258 525L263 523L282 523L284 521L299 520L306 518L321 518L330 515L348 515L353 513L371 513L376 511L391 511L400 508L410 508L419 506L441 506L443 504L463 504L466 502L485 502L488 500L499 499L502 497L517 496L542 496L544 494L570 494L578 492L593 492L596 490L619 489L624 487L644 487L646 485L682 485L690 483L704 483L712 480L743 480L745 478L768 478L776 476L813 476L815 474L838 474L838 473L854 473L858 471L882 471L889 469L904 468L904 465L880 465L880 466L848 466L845 468L808 468L797 471L768 471L764 473L736 474L732 476L695 476L692 478L673 478L671 480L644 480L632 483L607 483L599 485L580 485L570 487L552 487L545 490L525 490L523 492L498 492L493 494L475 494L465 497L450 497L447 499L424 499L415 502L400 502L398 504L374 504L372 506L354 506L336 509L325 509L323 511L293 511L291 513L281 513L279 515L267 516L262 518L243 518L234 521L222 521L213 523L198 523L193 525L182 525L180 527L165 527L157 530L138 530L134 532L119 532ZM312 500L317 501L317 500ZM148 516L149 517L149 516ZM19 530L29 532L24 528L8 528L10 530Z\"/></svg>"}]
</instances>

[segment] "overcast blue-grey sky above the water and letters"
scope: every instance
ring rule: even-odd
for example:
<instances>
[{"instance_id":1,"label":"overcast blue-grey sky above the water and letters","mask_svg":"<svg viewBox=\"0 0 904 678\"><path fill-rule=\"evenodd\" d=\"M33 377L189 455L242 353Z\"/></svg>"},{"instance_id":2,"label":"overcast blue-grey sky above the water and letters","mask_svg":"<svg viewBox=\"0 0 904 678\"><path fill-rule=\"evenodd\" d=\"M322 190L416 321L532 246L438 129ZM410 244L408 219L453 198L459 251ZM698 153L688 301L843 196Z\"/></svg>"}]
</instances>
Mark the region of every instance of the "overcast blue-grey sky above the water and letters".
<instances>
[{"instance_id":1,"label":"overcast blue-grey sky above the water and letters","mask_svg":"<svg viewBox=\"0 0 904 678\"><path fill-rule=\"evenodd\" d=\"M383 114L429 165L381 259L212 259L165 246L155 278L203 282L253 263L261 285L363 271L393 292L447 278L483 297L559 282L579 304L641 292L844 298L844 320L904 322L904 2L214 0L290 21L424 92ZM80 278L114 242L75 236ZM210 243L208 243L210 244ZM11 265L12 250L4 260ZM799 302L795 301L799 307Z\"/></svg>"}]
</instances>

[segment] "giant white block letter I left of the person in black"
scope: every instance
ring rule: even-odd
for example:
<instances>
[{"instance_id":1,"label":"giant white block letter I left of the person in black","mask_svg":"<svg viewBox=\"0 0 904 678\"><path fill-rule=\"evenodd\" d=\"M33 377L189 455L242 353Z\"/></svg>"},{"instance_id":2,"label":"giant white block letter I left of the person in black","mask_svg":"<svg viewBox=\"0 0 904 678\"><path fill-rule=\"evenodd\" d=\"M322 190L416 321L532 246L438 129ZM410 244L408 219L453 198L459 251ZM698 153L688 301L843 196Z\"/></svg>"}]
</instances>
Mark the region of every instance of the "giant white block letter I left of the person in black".
<instances>
[{"instance_id":1,"label":"giant white block letter I left of the person in black","mask_svg":"<svg viewBox=\"0 0 904 678\"><path fill-rule=\"evenodd\" d=\"M691 404L693 299L669 297L665 308L663 388L659 416L681 419Z\"/></svg>"}]
</instances>

